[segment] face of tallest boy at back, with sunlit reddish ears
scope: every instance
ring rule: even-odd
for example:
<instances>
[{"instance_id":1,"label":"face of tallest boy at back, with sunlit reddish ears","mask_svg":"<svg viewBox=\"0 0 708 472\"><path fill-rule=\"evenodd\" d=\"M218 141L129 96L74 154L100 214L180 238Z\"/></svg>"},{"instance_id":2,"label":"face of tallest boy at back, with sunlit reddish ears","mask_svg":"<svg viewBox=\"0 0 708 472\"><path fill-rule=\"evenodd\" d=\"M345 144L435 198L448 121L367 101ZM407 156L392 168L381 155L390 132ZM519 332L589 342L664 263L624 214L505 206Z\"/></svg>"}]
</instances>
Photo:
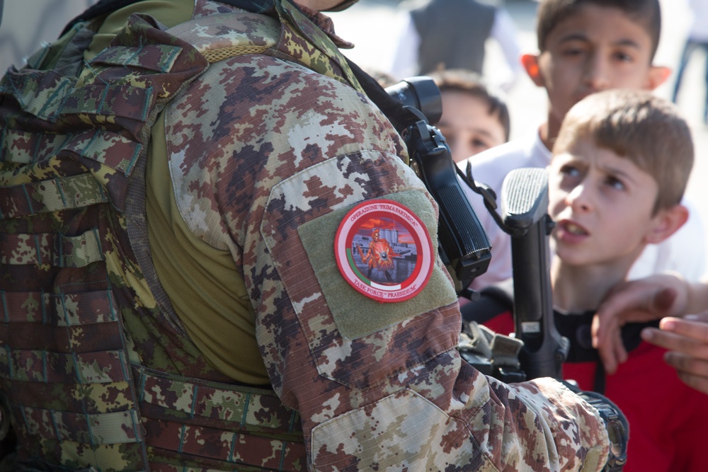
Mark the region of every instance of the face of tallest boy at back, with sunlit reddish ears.
<instances>
[{"instance_id":1,"label":"face of tallest boy at back, with sunlit reddish ears","mask_svg":"<svg viewBox=\"0 0 708 472\"><path fill-rule=\"evenodd\" d=\"M547 90L549 118L562 122L568 110L591 93L651 90L661 84L656 74L663 71L655 69L663 68L651 66L651 37L645 28L619 8L593 4L561 21L536 57L537 69L525 64L535 84Z\"/></svg>"}]
</instances>

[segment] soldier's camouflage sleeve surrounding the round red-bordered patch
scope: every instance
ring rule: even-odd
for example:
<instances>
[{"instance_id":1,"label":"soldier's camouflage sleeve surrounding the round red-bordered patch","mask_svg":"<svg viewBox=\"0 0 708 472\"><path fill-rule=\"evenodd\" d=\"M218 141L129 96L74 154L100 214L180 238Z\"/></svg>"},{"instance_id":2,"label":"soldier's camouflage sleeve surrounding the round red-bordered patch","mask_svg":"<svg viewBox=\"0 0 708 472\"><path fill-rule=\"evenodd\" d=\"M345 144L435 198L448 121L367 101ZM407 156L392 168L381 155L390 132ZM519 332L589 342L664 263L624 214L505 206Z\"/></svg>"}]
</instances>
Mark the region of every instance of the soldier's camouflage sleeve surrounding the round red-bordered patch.
<instances>
[{"instance_id":1,"label":"soldier's camouflage sleeve surrounding the round red-bordered patch","mask_svg":"<svg viewBox=\"0 0 708 472\"><path fill-rule=\"evenodd\" d=\"M459 358L459 308L439 261L433 288L401 303L342 281L334 232L362 201L405 202L436 247L435 202L367 98L249 55L212 64L166 120L181 214L242 270L310 468L600 470L607 434L590 405L550 379L509 386Z\"/></svg>"}]
</instances>

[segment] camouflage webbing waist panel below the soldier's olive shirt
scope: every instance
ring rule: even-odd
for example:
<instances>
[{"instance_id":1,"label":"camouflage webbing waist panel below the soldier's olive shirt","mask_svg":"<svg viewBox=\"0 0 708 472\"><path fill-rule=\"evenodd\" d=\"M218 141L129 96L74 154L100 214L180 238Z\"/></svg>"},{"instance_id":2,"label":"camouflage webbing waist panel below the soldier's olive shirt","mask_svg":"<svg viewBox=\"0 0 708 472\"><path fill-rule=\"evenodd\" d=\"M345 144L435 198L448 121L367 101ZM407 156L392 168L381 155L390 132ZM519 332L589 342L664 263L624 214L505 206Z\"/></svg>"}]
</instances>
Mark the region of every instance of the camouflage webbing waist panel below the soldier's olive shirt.
<instances>
[{"instance_id":1,"label":"camouflage webbing waist panel below the soldier's olive shirt","mask_svg":"<svg viewBox=\"0 0 708 472\"><path fill-rule=\"evenodd\" d=\"M272 390L138 366L133 376L151 470L305 470L299 414Z\"/></svg>"}]
</instances>

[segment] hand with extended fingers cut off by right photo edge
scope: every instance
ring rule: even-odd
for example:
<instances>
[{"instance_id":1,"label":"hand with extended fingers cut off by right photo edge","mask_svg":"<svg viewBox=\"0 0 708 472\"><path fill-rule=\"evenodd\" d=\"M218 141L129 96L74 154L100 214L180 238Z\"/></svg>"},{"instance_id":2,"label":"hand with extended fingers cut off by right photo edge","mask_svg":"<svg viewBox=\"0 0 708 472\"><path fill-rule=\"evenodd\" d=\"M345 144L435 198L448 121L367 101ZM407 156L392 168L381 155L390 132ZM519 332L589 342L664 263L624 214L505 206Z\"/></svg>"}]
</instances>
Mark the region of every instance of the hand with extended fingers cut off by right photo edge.
<instances>
[{"instance_id":1,"label":"hand with extended fingers cut off by right photo edge","mask_svg":"<svg viewBox=\"0 0 708 472\"><path fill-rule=\"evenodd\" d=\"M664 318L656 328L644 328L641 338L669 350L664 360L684 384L708 393L708 311L685 318Z\"/></svg>"}]
</instances>

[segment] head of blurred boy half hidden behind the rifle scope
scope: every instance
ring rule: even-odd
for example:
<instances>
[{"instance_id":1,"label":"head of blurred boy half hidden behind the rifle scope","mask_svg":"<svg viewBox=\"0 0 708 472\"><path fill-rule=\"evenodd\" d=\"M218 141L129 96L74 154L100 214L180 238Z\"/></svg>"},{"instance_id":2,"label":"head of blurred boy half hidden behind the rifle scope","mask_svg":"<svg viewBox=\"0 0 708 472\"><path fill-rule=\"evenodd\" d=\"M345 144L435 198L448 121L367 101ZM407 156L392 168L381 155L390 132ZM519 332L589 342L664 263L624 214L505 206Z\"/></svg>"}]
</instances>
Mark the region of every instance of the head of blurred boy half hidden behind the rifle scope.
<instances>
[{"instance_id":1,"label":"head of blurred boy half hidden behind the rifle scope","mask_svg":"<svg viewBox=\"0 0 708 472\"><path fill-rule=\"evenodd\" d=\"M479 74L464 69L430 74L442 93L438 128L447 139L455 163L509 140L506 101L484 84Z\"/></svg>"}]
</instances>

